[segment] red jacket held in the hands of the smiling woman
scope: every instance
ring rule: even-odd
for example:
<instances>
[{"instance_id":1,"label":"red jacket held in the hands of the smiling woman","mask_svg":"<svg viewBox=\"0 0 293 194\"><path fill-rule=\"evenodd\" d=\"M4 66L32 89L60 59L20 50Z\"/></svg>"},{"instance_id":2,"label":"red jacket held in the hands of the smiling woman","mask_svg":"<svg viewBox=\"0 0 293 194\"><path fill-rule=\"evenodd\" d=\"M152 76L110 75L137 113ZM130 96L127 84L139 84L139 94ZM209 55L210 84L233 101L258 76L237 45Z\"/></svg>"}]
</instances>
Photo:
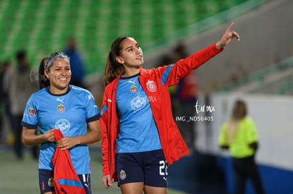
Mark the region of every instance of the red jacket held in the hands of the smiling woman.
<instances>
[{"instance_id":1,"label":"red jacket held in the hands of the smiling woman","mask_svg":"<svg viewBox=\"0 0 293 194\"><path fill-rule=\"evenodd\" d=\"M54 136L56 141L63 138L58 129L54 130ZM69 150L61 151L61 148L56 147L52 163L54 165L54 187L57 194L86 194L72 165Z\"/></svg>"}]
</instances>

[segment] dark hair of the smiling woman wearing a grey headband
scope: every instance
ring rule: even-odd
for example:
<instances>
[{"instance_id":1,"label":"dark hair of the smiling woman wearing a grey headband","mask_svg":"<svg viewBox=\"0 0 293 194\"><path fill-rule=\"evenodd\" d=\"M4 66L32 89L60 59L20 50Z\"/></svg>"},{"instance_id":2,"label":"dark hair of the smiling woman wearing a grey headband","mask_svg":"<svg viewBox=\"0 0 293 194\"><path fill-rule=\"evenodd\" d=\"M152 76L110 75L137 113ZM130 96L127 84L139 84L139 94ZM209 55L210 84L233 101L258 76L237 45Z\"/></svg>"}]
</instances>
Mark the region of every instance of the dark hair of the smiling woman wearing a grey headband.
<instances>
[{"instance_id":1,"label":"dark hair of the smiling woman wearing a grey headband","mask_svg":"<svg viewBox=\"0 0 293 194\"><path fill-rule=\"evenodd\" d=\"M39 66L39 86L40 89L47 87L50 85L50 80L45 76L45 69L47 67L47 64L49 63L49 61L56 55L62 54L64 56L66 56L66 54L64 54L63 52L53 52L52 54L50 54L49 56L45 56L44 58L42 58L42 60L40 61L40 66ZM50 71L50 67L48 68L48 70Z\"/></svg>"}]
</instances>

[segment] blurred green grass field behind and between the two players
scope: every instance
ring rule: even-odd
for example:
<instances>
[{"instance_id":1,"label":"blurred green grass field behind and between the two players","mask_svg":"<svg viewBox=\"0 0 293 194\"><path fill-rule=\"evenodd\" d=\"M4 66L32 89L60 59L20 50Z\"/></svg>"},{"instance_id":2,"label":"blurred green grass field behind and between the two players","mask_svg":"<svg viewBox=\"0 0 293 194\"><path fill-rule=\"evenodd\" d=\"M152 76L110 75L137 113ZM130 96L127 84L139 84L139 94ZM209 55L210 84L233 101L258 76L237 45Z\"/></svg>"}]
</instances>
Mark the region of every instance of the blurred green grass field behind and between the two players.
<instances>
[{"instance_id":1,"label":"blurred green grass field behind and between the two players","mask_svg":"<svg viewBox=\"0 0 293 194\"><path fill-rule=\"evenodd\" d=\"M91 185L92 193L120 193L117 183L110 189L102 185L102 154L91 150ZM0 193L1 194L38 194L38 162L30 157L25 149L22 161L16 161L12 150L0 149ZM168 194L183 194L168 188Z\"/></svg>"}]
</instances>

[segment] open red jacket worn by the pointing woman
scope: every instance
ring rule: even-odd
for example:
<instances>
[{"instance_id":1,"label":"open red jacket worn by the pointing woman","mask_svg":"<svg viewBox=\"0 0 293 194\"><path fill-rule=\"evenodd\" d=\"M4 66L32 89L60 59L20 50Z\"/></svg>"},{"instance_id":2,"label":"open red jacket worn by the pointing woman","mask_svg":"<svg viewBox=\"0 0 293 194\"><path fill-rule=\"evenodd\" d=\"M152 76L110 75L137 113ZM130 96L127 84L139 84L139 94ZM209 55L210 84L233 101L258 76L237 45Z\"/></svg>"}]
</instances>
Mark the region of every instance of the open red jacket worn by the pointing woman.
<instances>
[{"instance_id":1,"label":"open red jacket worn by the pointing woman","mask_svg":"<svg viewBox=\"0 0 293 194\"><path fill-rule=\"evenodd\" d=\"M222 49L223 50L223 49ZM188 75L191 70L199 67L207 60L221 52L215 44L197 51L186 59L169 66L162 66L146 70L141 68L139 83L149 97L151 110L154 115L156 126L163 153L168 164L188 154L188 147L180 135L173 120L171 111L171 99L168 87L176 85L180 78ZM109 175L117 181L115 173L115 152L117 150L116 139L118 138L119 121L117 118L115 93L120 76L113 80L107 87L103 96L100 124L102 127L102 152L103 152L103 176Z\"/></svg>"}]
</instances>

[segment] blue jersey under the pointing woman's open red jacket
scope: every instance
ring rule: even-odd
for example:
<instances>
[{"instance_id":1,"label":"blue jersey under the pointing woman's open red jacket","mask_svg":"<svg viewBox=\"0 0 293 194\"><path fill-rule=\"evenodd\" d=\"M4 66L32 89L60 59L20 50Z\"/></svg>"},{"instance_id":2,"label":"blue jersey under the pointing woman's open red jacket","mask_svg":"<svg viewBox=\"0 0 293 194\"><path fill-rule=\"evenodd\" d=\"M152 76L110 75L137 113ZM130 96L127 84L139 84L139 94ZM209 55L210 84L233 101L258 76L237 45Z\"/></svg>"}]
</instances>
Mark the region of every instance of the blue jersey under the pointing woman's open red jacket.
<instances>
[{"instance_id":1,"label":"blue jersey under the pointing woman's open red jacket","mask_svg":"<svg viewBox=\"0 0 293 194\"><path fill-rule=\"evenodd\" d=\"M117 152L162 149L149 98L139 83L139 74L120 78L116 105L119 115Z\"/></svg>"}]
</instances>

